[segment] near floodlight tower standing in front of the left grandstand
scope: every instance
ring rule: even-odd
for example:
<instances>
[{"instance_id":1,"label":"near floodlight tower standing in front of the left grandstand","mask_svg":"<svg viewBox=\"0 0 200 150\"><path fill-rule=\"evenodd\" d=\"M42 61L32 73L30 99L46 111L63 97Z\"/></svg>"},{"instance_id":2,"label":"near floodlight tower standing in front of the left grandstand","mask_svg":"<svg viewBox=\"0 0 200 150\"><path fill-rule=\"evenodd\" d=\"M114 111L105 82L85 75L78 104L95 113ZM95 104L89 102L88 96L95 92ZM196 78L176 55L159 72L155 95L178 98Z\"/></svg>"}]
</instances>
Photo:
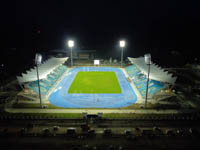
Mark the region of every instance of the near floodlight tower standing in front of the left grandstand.
<instances>
[{"instance_id":1,"label":"near floodlight tower standing in front of the left grandstand","mask_svg":"<svg viewBox=\"0 0 200 150\"><path fill-rule=\"evenodd\" d=\"M36 64L36 70L37 70L37 79L38 79L38 90L39 90L39 98L40 98L40 107L42 108L42 97L40 92L40 78L38 73L38 65L40 65L42 62L42 55L39 53L36 53L35 55L35 64Z\"/></svg>"}]
</instances>

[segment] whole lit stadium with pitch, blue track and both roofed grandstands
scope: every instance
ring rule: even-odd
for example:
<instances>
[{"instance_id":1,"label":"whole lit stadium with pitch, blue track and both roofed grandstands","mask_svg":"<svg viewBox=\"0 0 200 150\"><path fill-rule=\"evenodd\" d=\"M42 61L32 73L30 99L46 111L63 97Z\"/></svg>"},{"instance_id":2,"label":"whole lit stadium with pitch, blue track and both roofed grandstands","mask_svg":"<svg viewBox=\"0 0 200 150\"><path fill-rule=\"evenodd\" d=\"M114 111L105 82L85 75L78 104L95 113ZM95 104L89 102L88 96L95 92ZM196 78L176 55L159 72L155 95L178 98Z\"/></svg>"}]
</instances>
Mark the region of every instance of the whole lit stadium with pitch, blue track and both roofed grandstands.
<instances>
[{"instance_id":1,"label":"whole lit stadium with pitch, blue track and both roofed grandstands","mask_svg":"<svg viewBox=\"0 0 200 150\"><path fill-rule=\"evenodd\" d=\"M39 84L37 67L17 76L23 89L18 94L18 104L39 104L41 94L42 107L82 108L83 112L85 108L144 108L148 65L144 57L127 59L123 66L100 59L92 59L93 64L72 66L69 57L50 57L38 65ZM150 66L147 105L156 103L158 95L162 99L173 96L171 88L176 81L156 64L151 62Z\"/></svg>"}]
</instances>

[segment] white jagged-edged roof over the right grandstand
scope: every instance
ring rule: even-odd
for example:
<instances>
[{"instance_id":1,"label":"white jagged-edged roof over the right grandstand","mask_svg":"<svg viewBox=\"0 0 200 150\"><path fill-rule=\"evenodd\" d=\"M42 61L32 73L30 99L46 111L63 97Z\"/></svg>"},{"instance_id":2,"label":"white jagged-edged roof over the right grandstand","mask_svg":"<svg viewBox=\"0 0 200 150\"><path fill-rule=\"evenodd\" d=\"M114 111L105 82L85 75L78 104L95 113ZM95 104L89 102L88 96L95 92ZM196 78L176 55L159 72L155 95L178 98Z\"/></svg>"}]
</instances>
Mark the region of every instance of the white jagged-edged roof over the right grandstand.
<instances>
[{"instance_id":1,"label":"white jagged-edged roof over the right grandstand","mask_svg":"<svg viewBox=\"0 0 200 150\"><path fill-rule=\"evenodd\" d=\"M148 65L145 64L144 57L139 57L139 58L128 57L128 59L132 64L135 64L143 74L145 75L148 74ZM150 66L149 78L161 82L167 82L170 84L174 84L177 79L177 77L173 77L171 73L165 71L160 66L154 63L152 63Z\"/></svg>"}]
</instances>

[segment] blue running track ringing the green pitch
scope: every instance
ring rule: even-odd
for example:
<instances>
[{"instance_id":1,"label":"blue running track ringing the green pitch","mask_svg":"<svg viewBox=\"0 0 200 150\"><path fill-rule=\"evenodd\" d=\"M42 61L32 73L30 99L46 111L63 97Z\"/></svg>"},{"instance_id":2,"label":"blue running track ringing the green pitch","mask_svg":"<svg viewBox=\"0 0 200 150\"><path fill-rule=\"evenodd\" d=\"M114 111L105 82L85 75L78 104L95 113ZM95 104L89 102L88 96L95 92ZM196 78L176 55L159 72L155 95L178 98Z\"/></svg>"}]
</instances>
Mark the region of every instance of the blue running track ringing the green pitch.
<instances>
[{"instance_id":1,"label":"blue running track ringing the green pitch","mask_svg":"<svg viewBox=\"0 0 200 150\"><path fill-rule=\"evenodd\" d=\"M68 89L79 71L115 72L121 94L68 94ZM98 85L97 85L98 86ZM122 70L112 67L79 67L71 69L49 96L51 104L65 108L119 108L135 103L137 96Z\"/></svg>"}]
</instances>

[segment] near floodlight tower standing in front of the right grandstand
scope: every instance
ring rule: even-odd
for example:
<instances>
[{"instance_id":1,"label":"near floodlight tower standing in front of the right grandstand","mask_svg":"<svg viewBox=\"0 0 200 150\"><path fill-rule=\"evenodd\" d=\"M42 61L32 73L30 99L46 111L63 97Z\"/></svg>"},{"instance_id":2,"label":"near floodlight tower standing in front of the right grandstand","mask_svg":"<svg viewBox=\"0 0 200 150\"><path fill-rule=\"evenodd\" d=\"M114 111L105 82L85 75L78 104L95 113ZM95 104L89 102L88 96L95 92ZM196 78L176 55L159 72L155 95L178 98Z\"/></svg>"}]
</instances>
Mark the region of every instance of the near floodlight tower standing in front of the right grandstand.
<instances>
[{"instance_id":1,"label":"near floodlight tower standing in front of the right grandstand","mask_svg":"<svg viewBox=\"0 0 200 150\"><path fill-rule=\"evenodd\" d=\"M145 97L145 109L146 109L147 108L148 88L149 88L149 73L150 73L150 65L151 65L151 54L145 54L144 61L145 61L145 64L147 64L149 66L148 67L148 76L147 76L146 97Z\"/></svg>"}]
</instances>

